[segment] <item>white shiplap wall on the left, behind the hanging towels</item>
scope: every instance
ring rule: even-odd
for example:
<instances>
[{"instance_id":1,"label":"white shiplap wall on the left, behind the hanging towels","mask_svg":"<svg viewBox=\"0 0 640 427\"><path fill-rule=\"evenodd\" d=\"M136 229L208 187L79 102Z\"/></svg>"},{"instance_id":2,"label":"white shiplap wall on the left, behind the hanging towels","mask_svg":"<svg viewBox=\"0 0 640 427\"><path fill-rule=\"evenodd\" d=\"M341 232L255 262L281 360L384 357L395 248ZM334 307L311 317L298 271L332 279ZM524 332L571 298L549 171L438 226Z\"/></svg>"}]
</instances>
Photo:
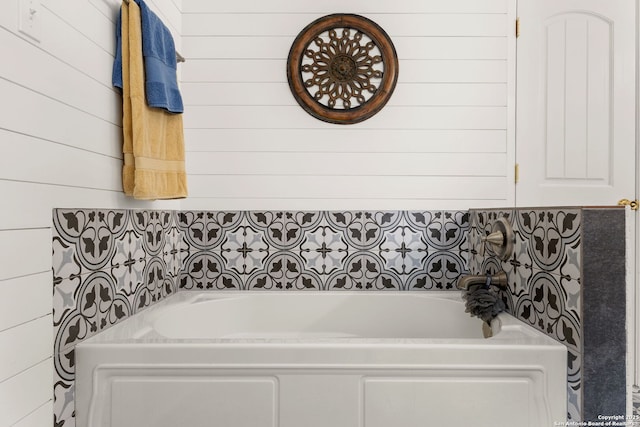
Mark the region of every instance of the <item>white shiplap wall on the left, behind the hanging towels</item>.
<instances>
[{"instance_id":1,"label":"white shiplap wall on the left, behind the hanging towels","mask_svg":"<svg viewBox=\"0 0 640 427\"><path fill-rule=\"evenodd\" d=\"M171 208L121 192L117 0L40 0L40 41L0 3L0 426L52 420L51 209ZM179 45L182 0L148 0Z\"/></svg>"}]
</instances>

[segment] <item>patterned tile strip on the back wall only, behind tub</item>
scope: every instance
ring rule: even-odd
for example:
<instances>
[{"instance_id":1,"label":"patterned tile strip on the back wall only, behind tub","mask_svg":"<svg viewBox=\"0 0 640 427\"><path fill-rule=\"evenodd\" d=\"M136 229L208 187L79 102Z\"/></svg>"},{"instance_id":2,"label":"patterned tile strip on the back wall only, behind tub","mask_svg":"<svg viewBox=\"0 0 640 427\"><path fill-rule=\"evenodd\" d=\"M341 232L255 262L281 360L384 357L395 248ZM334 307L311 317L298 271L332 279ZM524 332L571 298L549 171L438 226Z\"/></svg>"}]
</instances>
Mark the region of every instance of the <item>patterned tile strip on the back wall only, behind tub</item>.
<instances>
[{"instance_id":1,"label":"patterned tile strip on the back wall only, behind tub","mask_svg":"<svg viewBox=\"0 0 640 427\"><path fill-rule=\"evenodd\" d=\"M467 212L177 216L187 254L180 289L450 290L467 271Z\"/></svg>"}]
</instances>

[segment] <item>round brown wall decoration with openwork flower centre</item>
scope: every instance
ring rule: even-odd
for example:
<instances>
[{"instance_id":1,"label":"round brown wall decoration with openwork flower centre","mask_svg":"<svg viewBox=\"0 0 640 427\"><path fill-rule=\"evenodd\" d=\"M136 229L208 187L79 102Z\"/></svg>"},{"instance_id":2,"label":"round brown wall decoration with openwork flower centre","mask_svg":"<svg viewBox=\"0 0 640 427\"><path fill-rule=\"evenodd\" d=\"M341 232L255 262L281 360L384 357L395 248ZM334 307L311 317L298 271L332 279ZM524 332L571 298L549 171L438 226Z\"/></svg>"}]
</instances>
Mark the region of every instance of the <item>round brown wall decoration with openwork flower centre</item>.
<instances>
[{"instance_id":1,"label":"round brown wall decoration with openwork flower centre","mask_svg":"<svg viewBox=\"0 0 640 427\"><path fill-rule=\"evenodd\" d=\"M398 56L375 22L353 14L328 15L298 34L287 60L289 87L317 119L353 124L376 114L398 81Z\"/></svg>"}]
</instances>

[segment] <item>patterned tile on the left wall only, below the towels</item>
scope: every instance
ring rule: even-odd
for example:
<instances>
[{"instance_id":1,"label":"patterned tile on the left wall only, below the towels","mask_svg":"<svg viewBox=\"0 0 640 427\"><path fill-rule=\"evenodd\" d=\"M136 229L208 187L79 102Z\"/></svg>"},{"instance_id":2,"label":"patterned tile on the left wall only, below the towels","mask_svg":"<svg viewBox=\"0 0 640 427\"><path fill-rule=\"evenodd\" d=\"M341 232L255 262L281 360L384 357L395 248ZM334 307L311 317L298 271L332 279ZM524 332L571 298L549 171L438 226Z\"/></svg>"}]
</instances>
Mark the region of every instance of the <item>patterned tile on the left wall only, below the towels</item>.
<instances>
[{"instance_id":1,"label":"patterned tile on the left wall only, below the towels","mask_svg":"<svg viewBox=\"0 0 640 427\"><path fill-rule=\"evenodd\" d=\"M73 427L75 345L176 291L188 247L167 211L55 209L54 423Z\"/></svg>"}]
</instances>

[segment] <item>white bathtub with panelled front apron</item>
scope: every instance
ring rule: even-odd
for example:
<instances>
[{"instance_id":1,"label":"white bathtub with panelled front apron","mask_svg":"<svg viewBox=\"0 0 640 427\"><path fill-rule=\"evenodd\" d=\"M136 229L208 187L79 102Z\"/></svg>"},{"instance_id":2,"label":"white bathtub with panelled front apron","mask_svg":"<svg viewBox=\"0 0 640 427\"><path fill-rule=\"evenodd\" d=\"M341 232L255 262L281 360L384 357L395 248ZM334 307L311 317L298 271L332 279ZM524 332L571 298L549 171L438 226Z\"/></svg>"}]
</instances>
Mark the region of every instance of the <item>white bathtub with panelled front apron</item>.
<instances>
[{"instance_id":1,"label":"white bathtub with panelled front apron","mask_svg":"<svg viewBox=\"0 0 640 427\"><path fill-rule=\"evenodd\" d=\"M76 347L78 427L552 426L565 347L457 292L179 292Z\"/></svg>"}]
</instances>

